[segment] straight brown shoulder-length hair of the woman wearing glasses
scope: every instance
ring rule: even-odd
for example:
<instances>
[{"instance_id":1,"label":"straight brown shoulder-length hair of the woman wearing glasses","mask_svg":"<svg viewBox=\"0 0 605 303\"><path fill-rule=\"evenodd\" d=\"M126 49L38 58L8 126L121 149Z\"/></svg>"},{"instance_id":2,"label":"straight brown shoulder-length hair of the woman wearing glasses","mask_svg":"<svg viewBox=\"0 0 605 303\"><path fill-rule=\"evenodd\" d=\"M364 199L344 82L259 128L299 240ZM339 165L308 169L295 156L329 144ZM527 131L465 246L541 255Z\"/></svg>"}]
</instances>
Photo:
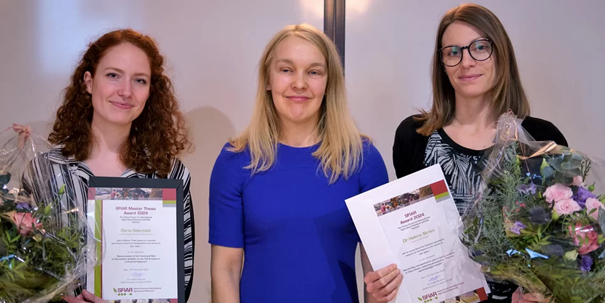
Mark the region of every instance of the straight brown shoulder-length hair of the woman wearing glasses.
<instances>
[{"instance_id":1,"label":"straight brown shoulder-length hair of the woman wearing glasses","mask_svg":"<svg viewBox=\"0 0 605 303\"><path fill-rule=\"evenodd\" d=\"M417 120L423 125L418 133L428 136L435 130L449 124L454 117L455 92L439 57L441 39L448 26L454 22L470 24L485 34L493 42L496 67L495 83L488 94L492 101L492 116L498 116L511 109L519 118L530 114L529 101L521 85L513 45L504 26L490 10L477 4L462 4L449 10L441 19L437 30L435 51L432 62L433 105L430 111L422 111Z\"/></svg>"}]
</instances>

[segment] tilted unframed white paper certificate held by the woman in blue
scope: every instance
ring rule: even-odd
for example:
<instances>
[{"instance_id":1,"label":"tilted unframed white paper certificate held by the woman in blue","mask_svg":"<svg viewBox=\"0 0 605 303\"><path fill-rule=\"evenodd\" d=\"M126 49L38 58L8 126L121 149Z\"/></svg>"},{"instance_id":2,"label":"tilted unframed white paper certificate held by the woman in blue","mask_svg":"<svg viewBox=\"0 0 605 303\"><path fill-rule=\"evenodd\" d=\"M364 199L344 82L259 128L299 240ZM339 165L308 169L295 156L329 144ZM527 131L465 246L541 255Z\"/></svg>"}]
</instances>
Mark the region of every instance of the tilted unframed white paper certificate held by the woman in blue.
<instances>
[{"instance_id":1,"label":"tilted unframed white paper certificate held by the woman in blue","mask_svg":"<svg viewBox=\"0 0 605 303\"><path fill-rule=\"evenodd\" d=\"M373 268L398 264L396 301L480 302L489 288L460 242L460 219L438 165L346 200Z\"/></svg>"}]
</instances>

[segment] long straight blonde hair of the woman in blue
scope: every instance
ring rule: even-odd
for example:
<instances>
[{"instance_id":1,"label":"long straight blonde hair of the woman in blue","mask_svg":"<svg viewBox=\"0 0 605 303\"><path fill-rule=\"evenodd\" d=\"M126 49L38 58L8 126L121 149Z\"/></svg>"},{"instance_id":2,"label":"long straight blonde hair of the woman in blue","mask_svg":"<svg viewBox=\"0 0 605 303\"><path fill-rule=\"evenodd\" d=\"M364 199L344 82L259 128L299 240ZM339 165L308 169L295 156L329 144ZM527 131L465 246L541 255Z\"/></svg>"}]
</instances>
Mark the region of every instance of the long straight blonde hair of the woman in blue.
<instances>
[{"instance_id":1,"label":"long straight blonde hair of the woman in blue","mask_svg":"<svg viewBox=\"0 0 605 303\"><path fill-rule=\"evenodd\" d=\"M340 175L348 178L361 166L362 139L347 105L342 64L336 46L324 33L308 24L289 25L279 31L265 47L259 61L258 87L252 121L236 139L230 140L231 151L250 150L252 161L246 169L252 173L266 171L275 163L281 122L273 104L271 91L267 90L269 68L277 45L287 37L295 36L309 41L324 55L328 69L328 83L320 107L318 124L321 145L313 156L321 160L321 166L330 183Z\"/></svg>"}]
</instances>

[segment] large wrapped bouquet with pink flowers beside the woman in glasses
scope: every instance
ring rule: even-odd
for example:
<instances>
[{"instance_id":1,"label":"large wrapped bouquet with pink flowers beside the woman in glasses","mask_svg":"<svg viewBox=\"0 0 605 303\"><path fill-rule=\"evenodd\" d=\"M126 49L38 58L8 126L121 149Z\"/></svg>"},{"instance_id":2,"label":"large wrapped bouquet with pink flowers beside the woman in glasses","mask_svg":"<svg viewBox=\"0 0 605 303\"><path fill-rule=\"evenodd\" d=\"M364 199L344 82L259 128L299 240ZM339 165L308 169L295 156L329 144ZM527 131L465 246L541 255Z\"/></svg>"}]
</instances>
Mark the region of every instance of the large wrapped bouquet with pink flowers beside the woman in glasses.
<instances>
[{"instance_id":1,"label":"large wrapped bouquet with pink flowers beside the woman in glasses","mask_svg":"<svg viewBox=\"0 0 605 303\"><path fill-rule=\"evenodd\" d=\"M605 299L605 165L498 120L462 242L488 278L556 302Z\"/></svg>"}]
</instances>

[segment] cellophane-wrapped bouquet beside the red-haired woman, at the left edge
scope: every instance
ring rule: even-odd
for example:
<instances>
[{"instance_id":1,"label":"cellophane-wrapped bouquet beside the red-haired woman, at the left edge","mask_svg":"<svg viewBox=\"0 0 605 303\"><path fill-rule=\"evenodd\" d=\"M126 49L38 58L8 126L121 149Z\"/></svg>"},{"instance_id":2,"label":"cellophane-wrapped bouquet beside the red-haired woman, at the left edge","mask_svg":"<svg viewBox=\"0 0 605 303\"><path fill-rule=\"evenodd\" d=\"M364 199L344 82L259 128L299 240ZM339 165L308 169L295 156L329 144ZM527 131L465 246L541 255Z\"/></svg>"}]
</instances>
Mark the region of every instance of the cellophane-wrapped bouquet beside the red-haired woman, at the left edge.
<instances>
[{"instance_id":1,"label":"cellophane-wrapped bouquet beside the red-haired woman, at the left edge","mask_svg":"<svg viewBox=\"0 0 605 303\"><path fill-rule=\"evenodd\" d=\"M77 176L28 127L15 125L0 139L0 303L74 295L100 262L86 197L71 186Z\"/></svg>"}]
</instances>

